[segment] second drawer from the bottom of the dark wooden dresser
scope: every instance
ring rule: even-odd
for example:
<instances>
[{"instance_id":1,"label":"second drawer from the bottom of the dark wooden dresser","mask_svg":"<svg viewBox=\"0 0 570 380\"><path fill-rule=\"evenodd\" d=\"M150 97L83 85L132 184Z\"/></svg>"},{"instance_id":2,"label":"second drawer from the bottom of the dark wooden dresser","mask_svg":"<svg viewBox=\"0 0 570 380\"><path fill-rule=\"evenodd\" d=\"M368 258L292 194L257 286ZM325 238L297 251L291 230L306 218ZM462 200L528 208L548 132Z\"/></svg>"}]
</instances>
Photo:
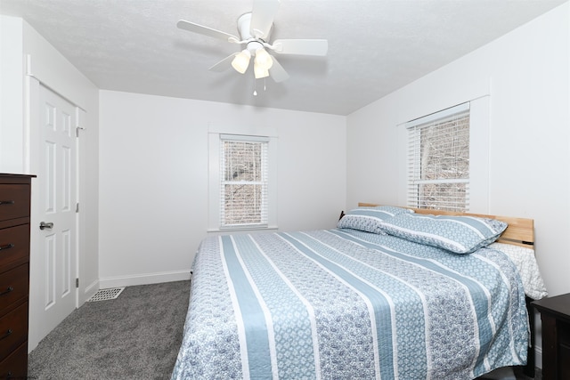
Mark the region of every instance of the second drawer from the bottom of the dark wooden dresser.
<instances>
[{"instance_id":1,"label":"second drawer from the bottom of the dark wooden dresser","mask_svg":"<svg viewBox=\"0 0 570 380\"><path fill-rule=\"evenodd\" d=\"M28 340L28 303L0 318L0 360Z\"/></svg>"}]
</instances>

